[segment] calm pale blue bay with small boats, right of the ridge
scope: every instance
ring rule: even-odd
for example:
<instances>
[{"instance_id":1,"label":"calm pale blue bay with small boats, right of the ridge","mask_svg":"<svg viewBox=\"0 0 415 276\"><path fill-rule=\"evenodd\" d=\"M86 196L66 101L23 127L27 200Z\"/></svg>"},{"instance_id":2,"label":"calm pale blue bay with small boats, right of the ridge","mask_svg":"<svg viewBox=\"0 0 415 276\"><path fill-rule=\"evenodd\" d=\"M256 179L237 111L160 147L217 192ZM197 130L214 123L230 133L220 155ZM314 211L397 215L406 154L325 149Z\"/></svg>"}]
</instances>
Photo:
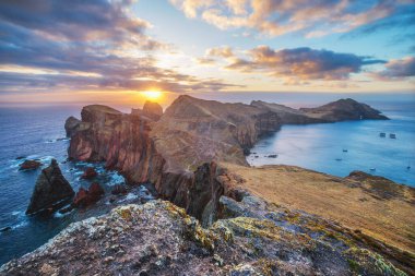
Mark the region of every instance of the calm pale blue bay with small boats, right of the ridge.
<instances>
[{"instance_id":1,"label":"calm pale blue bay with small boats, right of the ridge","mask_svg":"<svg viewBox=\"0 0 415 276\"><path fill-rule=\"evenodd\" d=\"M251 166L295 165L339 177L361 170L414 187L415 105L378 101L374 106L391 120L283 125L262 137L247 160ZM390 133L396 139L390 139Z\"/></svg>"}]
</instances>

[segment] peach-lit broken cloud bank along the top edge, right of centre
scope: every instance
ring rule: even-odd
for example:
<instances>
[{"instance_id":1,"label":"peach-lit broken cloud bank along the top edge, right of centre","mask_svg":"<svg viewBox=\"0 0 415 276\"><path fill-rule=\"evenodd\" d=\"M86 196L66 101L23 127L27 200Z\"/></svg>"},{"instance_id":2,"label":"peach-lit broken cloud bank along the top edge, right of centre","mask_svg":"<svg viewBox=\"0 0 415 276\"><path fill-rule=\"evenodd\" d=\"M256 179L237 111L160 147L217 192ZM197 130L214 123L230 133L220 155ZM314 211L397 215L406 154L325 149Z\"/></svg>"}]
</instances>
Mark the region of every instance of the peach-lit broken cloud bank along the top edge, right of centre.
<instances>
[{"instance_id":1,"label":"peach-lit broken cloud bank along the top edge, right of centre","mask_svg":"<svg viewBox=\"0 0 415 276\"><path fill-rule=\"evenodd\" d=\"M253 28L278 36L300 32L307 37L346 33L396 15L411 1L371 0L170 0L188 17L201 17L222 29Z\"/></svg>"}]
</instances>

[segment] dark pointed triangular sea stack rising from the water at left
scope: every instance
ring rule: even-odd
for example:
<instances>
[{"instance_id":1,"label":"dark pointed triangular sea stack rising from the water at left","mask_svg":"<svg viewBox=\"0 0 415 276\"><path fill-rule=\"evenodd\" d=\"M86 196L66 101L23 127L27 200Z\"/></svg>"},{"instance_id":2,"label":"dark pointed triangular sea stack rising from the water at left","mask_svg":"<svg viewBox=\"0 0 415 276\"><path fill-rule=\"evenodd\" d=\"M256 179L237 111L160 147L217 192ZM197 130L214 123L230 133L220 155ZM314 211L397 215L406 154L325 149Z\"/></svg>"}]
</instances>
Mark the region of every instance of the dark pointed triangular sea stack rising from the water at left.
<instances>
[{"instance_id":1,"label":"dark pointed triangular sea stack rising from the water at left","mask_svg":"<svg viewBox=\"0 0 415 276\"><path fill-rule=\"evenodd\" d=\"M72 187L64 179L56 159L43 169L37 178L26 214L34 214L47 208L59 207L74 195Z\"/></svg>"}]
</instances>

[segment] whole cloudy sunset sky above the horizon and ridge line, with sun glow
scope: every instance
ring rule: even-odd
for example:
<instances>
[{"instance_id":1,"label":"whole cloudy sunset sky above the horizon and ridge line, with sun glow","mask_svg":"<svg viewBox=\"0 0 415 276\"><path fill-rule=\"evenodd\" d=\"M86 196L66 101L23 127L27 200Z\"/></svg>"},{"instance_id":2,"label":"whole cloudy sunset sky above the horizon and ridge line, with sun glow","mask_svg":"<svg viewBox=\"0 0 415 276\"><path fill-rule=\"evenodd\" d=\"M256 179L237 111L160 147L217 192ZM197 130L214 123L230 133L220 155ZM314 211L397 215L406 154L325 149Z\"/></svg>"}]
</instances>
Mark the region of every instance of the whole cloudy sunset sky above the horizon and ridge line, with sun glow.
<instances>
[{"instance_id":1,"label":"whole cloudy sunset sky above the horizon and ridge line, with sun glow","mask_svg":"<svg viewBox=\"0 0 415 276\"><path fill-rule=\"evenodd\" d=\"M149 91L414 94L415 1L0 2L0 104Z\"/></svg>"}]
</instances>

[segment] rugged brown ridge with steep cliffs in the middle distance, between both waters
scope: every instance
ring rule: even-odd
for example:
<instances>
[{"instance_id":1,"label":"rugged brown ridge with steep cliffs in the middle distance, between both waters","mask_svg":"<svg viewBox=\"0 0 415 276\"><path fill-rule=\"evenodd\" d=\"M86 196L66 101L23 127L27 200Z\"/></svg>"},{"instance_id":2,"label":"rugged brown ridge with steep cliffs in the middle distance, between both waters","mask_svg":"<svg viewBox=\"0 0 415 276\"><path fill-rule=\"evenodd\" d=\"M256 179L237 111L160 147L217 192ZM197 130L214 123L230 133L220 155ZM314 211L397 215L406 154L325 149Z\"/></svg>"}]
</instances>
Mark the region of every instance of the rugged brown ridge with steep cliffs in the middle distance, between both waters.
<instances>
[{"instance_id":1,"label":"rugged brown ridge with steep cliffs in the middle distance, between both waters","mask_svg":"<svg viewBox=\"0 0 415 276\"><path fill-rule=\"evenodd\" d=\"M159 118L149 116L150 110L159 113L154 105L146 110L123 115L105 106L84 107L82 121L67 122L72 134L69 156L104 160L131 183L154 183L163 199L204 225L214 221L218 199L229 190L223 182L228 176L217 163L246 166L245 153L282 123L325 121L275 104L223 104L190 96L179 96Z\"/></svg>"}]
</instances>

